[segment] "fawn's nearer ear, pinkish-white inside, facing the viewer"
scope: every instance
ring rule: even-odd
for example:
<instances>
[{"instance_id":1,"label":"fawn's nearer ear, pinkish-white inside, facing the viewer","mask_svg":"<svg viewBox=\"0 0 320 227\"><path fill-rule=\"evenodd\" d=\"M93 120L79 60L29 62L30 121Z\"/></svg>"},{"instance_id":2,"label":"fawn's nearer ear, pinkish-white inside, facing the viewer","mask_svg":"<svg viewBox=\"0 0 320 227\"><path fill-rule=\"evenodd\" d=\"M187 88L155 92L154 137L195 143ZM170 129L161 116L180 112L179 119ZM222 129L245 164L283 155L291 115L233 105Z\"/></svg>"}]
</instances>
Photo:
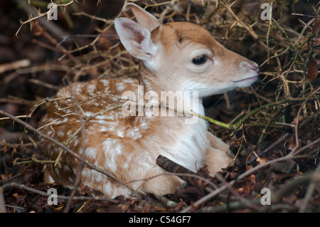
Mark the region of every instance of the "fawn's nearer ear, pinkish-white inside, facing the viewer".
<instances>
[{"instance_id":1,"label":"fawn's nearer ear, pinkish-white inside, facing the viewer","mask_svg":"<svg viewBox=\"0 0 320 227\"><path fill-rule=\"evenodd\" d=\"M126 18L114 20L114 27L124 48L135 58L152 63L158 47L148 28Z\"/></svg>"}]
</instances>

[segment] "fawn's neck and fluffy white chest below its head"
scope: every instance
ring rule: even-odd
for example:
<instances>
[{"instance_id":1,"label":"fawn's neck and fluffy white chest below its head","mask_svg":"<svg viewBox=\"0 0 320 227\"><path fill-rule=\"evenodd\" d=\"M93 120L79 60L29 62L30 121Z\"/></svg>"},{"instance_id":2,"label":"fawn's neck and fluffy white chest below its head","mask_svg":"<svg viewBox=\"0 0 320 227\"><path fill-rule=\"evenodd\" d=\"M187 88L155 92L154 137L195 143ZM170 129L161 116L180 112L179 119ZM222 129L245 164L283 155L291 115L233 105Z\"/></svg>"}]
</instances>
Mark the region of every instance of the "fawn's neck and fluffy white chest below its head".
<instances>
[{"instance_id":1,"label":"fawn's neck and fluffy white chest below its head","mask_svg":"<svg viewBox=\"0 0 320 227\"><path fill-rule=\"evenodd\" d=\"M163 130L161 131L161 137L166 138L167 142L161 143L161 147L167 152L166 157L196 172L198 167L201 167L203 164L203 155L208 146L208 139L206 137L208 123L206 120L191 116L190 112L192 110L204 115L202 99L196 93L166 90L168 88L161 87L160 84L163 83L159 83L159 78L146 69L144 65L141 64L139 68L139 83L144 86L144 95L148 92L159 94L158 103L161 103L161 107L159 107L160 117L146 118L151 121L156 120L158 125L157 130L160 130L160 128ZM187 110L189 113L173 111L170 115L170 110L161 102L163 100L161 94L166 93L168 95L170 92L174 93L174 100L179 102L176 104L181 105L182 102L183 110ZM165 112L165 117L161 117L164 116L161 113L162 111Z\"/></svg>"}]
</instances>

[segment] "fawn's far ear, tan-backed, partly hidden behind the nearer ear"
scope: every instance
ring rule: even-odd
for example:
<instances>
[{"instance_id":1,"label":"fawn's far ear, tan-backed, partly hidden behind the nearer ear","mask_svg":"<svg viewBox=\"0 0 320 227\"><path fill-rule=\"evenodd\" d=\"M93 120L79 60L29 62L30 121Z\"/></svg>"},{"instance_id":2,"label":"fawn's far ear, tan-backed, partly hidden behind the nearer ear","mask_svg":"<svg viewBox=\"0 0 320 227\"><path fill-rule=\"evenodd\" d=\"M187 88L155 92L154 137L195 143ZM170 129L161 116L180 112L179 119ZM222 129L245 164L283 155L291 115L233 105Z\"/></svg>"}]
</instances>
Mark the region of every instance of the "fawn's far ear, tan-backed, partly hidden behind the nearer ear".
<instances>
[{"instance_id":1,"label":"fawn's far ear, tan-backed, partly hidden behind the nearer ear","mask_svg":"<svg viewBox=\"0 0 320 227\"><path fill-rule=\"evenodd\" d=\"M149 14L147 11L142 9L140 6L137 6L133 3L125 4L123 7L124 11L132 11L132 14L134 14L137 22L141 24L142 26L149 29L149 31L153 31L154 28L159 27L160 23L158 19L152 14Z\"/></svg>"}]
</instances>

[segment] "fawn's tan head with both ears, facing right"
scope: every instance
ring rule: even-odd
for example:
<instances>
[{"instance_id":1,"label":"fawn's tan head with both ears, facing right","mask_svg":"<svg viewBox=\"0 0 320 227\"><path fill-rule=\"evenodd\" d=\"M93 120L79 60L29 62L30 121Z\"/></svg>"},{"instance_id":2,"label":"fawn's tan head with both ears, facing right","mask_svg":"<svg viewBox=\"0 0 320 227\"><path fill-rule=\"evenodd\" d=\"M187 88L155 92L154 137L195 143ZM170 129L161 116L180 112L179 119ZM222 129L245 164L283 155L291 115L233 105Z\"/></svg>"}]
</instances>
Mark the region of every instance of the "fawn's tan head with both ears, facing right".
<instances>
[{"instance_id":1,"label":"fawn's tan head with both ears, facing right","mask_svg":"<svg viewBox=\"0 0 320 227\"><path fill-rule=\"evenodd\" d=\"M257 64L224 48L206 29L193 23L159 21L135 4L126 4L137 22L116 19L115 28L129 53L161 90L198 91L200 97L250 86Z\"/></svg>"}]
</instances>

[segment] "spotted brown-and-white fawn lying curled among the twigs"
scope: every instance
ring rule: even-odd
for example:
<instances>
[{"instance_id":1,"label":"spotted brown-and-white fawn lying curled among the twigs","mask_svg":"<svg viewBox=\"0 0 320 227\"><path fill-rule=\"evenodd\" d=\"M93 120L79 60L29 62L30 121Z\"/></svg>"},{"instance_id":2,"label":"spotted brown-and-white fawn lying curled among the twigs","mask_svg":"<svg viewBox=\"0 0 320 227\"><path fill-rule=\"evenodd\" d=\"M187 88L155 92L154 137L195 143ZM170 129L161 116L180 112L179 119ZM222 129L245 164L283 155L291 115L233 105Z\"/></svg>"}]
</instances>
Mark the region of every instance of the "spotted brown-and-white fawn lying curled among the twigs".
<instances>
[{"instance_id":1,"label":"spotted brown-and-white fawn lying curled among the twigs","mask_svg":"<svg viewBox=\"0 0 320 227\"><path fill-rule=\"evenodd\" d=\"M150 91L181 91L182 101L188 103L190 110L196 107L194 111L204 115L203 97L247 87L257 79L256 63L225 49L204 28L186 22L161 25L135 4L126 4L124 10L131 10L137 22L120 18L114 26L124 48L141 60L139 81L101 79L74 83L71 90L60 89L56 97L71 97L75 93L83 117L119 105L117 98L103 94L121 96L132 91L138 95L139 85L143 86L144 95ZM196 100L184 97L186 92L197 92ZM81 126L76 108L70 98L52 102L41 120L41 131L59 142L67 141ZM159 110L163 108L166 107ZM117 181L87 166L78 172L80 162L67 152L62 153L60 168L45 165L45 180L73 186L75 176L81 174L82 184L110 198L170 194L184 182L156 165L159 154L194 172L204 164L211 175L228 167L228 144L208 132L207 127L207 122L199 118L187 124L185 115L125 116L118 107L86 122L85 138L79 133L68 143L88 162L114 174ZM45 159L55 160L59 151L57 145L41 139Z\"/></svg>"}]
</instances>

